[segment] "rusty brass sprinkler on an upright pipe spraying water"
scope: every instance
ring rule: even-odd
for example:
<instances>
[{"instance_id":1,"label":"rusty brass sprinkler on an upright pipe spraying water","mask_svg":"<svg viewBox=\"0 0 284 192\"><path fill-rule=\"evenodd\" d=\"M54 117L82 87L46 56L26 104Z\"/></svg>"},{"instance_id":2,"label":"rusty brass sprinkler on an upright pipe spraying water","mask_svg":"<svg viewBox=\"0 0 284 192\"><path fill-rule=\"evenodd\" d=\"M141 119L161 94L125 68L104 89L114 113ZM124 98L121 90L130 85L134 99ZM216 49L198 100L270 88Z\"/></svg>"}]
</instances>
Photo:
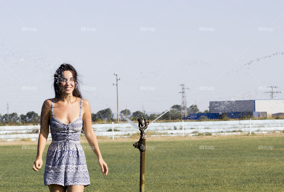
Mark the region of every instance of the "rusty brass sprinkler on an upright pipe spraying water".
<instances>
[{"instance_id":1,"label":"rusty brass sprinkler on an upright pipe spraying water","mask_svg":"<svg viewBox=\"0 0 284 192\"><path fill-rule=\"evenodd\" d=\"M140 130L140 139L133 146L140 151L140 192L144 192L145 186L145 151L146 151L146 139L144 130L147 129L149 121L145 121L145 118L140 117L138 119L138 127Z\"/></svg>"}]
</instances>

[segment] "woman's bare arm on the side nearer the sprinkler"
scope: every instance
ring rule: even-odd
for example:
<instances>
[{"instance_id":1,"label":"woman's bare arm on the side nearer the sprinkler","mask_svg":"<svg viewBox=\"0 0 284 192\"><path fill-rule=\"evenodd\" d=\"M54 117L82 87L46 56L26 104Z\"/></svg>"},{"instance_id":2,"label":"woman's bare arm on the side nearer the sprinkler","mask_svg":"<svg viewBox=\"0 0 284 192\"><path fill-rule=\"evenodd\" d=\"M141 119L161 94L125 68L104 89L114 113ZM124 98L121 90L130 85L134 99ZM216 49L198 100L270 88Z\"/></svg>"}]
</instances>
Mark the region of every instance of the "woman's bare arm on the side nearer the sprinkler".
<instances>
[{"instance_id":1,"label":"woman's bare arm on the side nearer the sprinkler","mask_svg":"<svg viewBox=\"0 0 284 192\"><path fill-rule=\"evenodd\" d=\"M92 127L91 107L87 99L83 99L83 109L83 130L85 137L88 143L90 144L91 149L93 149L94 153L98 158L99 165L101 166L101 172L103 172L103 175L107 175L109 170L106 163L104 162L104 159L101 156L97 137Z\"/></svg>"}]
</instances>

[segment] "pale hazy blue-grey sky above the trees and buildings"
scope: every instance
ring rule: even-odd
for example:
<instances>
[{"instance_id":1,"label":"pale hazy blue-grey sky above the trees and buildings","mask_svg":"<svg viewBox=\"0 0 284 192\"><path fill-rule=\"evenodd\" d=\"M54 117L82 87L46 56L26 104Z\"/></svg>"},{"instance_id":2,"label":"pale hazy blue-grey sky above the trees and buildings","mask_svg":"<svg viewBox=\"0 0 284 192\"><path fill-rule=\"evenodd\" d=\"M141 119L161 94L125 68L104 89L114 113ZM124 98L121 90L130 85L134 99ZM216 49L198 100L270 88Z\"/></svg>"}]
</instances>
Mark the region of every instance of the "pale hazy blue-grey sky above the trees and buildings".
<instances>
[{"instance_id":1,"label":"pale hazy blue-grey sky above the trees and buildings","mask_svg":"<svg viewBox=\"0 0 284 192\"><path fill-rule=\"evenodd\" d=\"M92 112L284 99L283 1L0 0L0 113L40 114L69 62ZM279 54L273 54L273 53ZM271 57L266 57L271 56ZM251 60L266 57L246 65Z\"/></svg>"}]
</instances>

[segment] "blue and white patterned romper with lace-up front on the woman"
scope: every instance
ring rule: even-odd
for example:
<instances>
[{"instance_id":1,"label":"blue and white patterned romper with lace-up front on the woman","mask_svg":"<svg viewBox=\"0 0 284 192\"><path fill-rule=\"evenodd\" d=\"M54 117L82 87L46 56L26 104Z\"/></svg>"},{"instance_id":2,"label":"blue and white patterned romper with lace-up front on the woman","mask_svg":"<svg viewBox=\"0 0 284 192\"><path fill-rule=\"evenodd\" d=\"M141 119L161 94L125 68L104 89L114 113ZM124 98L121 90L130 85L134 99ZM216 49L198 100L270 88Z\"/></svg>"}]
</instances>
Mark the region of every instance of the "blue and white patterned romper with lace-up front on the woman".
<instances>
[{"instance_id":1,"label":"blue and white patterned romper with lace-up front on the woman","mask_svg":"<svg viewBox=\"0 0 284 192\"><path fill-rule=\"evenodd\" d=\"M72 123L65 124L53 117L53 99L51 99L52 119L49 121L52 141L46 154L44 169L44 185L90 185L85 153L80 144L80 134L83 128L81 118L82 103L80 101L80 116Z\"/></svg>"}]
</instances>

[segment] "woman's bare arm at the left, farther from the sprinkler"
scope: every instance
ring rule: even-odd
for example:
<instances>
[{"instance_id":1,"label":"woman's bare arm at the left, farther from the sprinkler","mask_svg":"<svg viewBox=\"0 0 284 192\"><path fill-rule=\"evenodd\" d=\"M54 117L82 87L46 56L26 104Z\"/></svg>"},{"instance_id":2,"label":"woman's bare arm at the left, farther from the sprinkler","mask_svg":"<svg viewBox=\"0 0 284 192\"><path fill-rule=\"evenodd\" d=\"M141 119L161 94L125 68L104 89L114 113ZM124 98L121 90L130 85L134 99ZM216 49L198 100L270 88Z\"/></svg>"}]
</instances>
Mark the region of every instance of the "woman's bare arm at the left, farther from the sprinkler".
<instances>
[{"instance_id":1,"label":"woman's bare arm at the left, farther from the sprinkler","mask_svg":"<svg viewBox=\"0 0 284 192\"><path fill-rule=\"evenodd\" d=\"M49 104L48 100L43 102L41 108L41 130L38 136L38 152L36 154L35 162L33 163L33 170L38 171L43 162L42 162L42 154L44 147L46 145L46 140L49 133L49 110L51 108L51 104Z\"/></svg>"}]
</instances>

